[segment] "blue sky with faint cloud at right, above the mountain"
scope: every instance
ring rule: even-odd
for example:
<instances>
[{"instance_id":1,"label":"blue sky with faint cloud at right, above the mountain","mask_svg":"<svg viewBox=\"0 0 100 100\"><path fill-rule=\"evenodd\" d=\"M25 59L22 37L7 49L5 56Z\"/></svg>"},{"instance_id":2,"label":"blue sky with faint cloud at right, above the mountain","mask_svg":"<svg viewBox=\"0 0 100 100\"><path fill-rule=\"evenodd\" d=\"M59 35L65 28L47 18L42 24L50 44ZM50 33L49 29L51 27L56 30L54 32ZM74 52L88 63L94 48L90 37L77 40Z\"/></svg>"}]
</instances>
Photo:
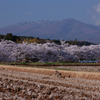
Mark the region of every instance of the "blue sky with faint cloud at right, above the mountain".
<instances>
[{"instance_id":1,"label":"blue sky with faint cloud at right, above the mountain","mask_svg":"<svg viewBox=\"0 0 100 100\"><path fill-rule=\"evenodd\" d=\"M0 28L24 21L68 18L100 25L100 0L0 0Z\"/></svg>"}]
</instances>

